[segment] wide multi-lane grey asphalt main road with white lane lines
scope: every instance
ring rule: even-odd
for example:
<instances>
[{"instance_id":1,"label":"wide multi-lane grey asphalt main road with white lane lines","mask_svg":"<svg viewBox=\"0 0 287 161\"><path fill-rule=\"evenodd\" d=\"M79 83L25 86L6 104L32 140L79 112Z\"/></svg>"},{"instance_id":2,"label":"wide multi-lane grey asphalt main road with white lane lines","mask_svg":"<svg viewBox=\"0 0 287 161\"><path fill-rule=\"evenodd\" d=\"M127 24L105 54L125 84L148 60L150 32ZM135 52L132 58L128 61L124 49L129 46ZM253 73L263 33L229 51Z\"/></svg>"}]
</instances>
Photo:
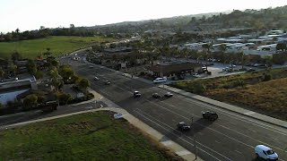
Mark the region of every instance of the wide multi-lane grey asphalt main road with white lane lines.
<instances>
[{"instance_id":1,"label":"wide multi-lane grey asphalt main road with white lane lines","mask_svg":"<svg viewBox=\"0 0 287 161\"><path fill-rule=\"evenodd\" d=\"M82 61L66 59L63 62L71 64L79 75L91 80L91 89L204 160L253 160L254 147L258 144L273 148L279 160L287 159L286 129L176 94L170 98L155 99L152 93L163 96L167 91L151 83L111 72L100 65L90 68L90 64ZM94 76L100 80L93 80ZM105 85L105 80L111 84ZM142 97L133 97L135 90L140 91ZM213 123L204 120L201 112L206 110L217 112L219 119ZM192 117L194 123L191 123ZM192 131L178 131L176 125L182 121L191 123ZM164 140L166 138L161 141Z\"/></svg>"}]
</instances>

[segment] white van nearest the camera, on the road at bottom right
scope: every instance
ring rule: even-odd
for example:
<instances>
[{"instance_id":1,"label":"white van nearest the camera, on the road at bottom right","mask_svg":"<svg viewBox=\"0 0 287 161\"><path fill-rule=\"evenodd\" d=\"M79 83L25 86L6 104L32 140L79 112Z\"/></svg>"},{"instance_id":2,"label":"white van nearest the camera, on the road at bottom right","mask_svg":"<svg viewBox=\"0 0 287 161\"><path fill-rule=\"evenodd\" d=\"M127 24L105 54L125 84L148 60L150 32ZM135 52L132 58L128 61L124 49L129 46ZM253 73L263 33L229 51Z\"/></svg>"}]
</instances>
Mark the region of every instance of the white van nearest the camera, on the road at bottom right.
<instances>
[{"instance_id":1,"label":"white van nearest the camera, on the road at bottom right","mask_svg":"<svg viewBox=\"0 0 287 161\"><path fill-rule=\"evenodd\" d=\"M269 147L266 147L265 145L257 145L257 147L255 147L255 154L257 155L257 157L261 157L266 160L278 159L278 155L274 152L274 150Z\"/></svg>"}]
</instances>

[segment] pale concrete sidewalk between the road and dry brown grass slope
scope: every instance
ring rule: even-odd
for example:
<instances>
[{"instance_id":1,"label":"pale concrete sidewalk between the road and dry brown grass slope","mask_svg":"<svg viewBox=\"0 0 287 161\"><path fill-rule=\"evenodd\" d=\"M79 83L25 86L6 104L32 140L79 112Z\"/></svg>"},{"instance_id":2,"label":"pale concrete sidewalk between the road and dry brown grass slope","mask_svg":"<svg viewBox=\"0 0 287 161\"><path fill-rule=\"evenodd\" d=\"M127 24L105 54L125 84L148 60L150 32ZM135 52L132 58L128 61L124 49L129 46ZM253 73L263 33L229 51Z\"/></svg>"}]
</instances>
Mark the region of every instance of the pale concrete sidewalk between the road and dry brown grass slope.
<instances>
[{"instance_id":1,"label":"pale concrete sidewalk between the road and dry brown grass slope","mask_svg":"<svg viewBox=\"0 0 287 161\"><path fill-rule=\"evenodd\" d=\"M249 110L241 108L239 106L232 106L232 105L229 105L229 104L226 104L226 103L223 103L223 102L220 102L220 101L208 98L208 97L202 97L202 96L199 96L199 95L196 95L193 93L189 93L189 92L184 91L182 89L172 88L170 86L164 86L164 88L163 88L163 86L160 85L159 88L168 89L174 93L178 93L178 94L186 96L186 97L191 97L191 98L194 98L196 100L202 101L204 103L207 103L207 104L210 104L213 106L218 106L218 107L221 107L223 109L226 109L226 110L238 113L238 114L243 114L243 115L246 115L248 117L252 117L252 118L255 118L257 120L263 121L265 123L272 123L274 125L281 126L283 128L287 128L287 122L284 122L284 121L279 120L279 119L275 119L273 117L270 117L270 116L267 116L264 114L258 114L256 112L249 111Z\"/></svg>"}]
</instances>

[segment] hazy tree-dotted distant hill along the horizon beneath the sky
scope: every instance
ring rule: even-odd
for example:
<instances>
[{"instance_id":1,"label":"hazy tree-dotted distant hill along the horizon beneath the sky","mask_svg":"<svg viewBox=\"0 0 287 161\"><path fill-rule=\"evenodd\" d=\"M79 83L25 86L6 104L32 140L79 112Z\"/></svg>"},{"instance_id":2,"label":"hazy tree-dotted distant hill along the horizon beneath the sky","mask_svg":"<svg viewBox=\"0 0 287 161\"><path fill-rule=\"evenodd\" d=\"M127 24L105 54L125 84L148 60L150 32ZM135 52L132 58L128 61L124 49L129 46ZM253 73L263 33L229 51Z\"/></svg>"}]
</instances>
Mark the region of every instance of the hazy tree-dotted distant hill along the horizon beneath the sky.
<instances>
[{"instance_id":1,"label":"hazy tree-dotted distant hill along the horizon beneath the sky","mask_svg":"<svg viewBox=\"0 0 287 161\"><path fill-rule=\"evenodd\" d=\"M261 10L227 11L175 16L147 21L124 21L90 29L113 33L133 33L145 30L216 30L226 28L286 29L287 5Z\"/></svg>"}]
</instances>

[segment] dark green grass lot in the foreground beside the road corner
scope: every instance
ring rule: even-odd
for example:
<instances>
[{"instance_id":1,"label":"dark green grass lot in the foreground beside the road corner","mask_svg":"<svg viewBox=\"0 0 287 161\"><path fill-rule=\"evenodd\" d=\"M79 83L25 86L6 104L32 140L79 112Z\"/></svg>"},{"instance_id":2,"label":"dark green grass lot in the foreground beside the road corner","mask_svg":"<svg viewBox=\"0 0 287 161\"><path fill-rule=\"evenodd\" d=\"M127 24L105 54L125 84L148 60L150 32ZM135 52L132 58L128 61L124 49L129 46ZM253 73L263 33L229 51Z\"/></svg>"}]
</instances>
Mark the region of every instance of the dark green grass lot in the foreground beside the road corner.
<instances>
[{"instance_id":1,"label":"dark green grass lot in the foreground beside the road corner","mask_svg":"<svg viewBox=\"0 0 287 161\"><path fill-rule=\"evenodd\" d=\"M111 112L0 131L0 160L181 160Z\"/></svg>"}]
</instances>

